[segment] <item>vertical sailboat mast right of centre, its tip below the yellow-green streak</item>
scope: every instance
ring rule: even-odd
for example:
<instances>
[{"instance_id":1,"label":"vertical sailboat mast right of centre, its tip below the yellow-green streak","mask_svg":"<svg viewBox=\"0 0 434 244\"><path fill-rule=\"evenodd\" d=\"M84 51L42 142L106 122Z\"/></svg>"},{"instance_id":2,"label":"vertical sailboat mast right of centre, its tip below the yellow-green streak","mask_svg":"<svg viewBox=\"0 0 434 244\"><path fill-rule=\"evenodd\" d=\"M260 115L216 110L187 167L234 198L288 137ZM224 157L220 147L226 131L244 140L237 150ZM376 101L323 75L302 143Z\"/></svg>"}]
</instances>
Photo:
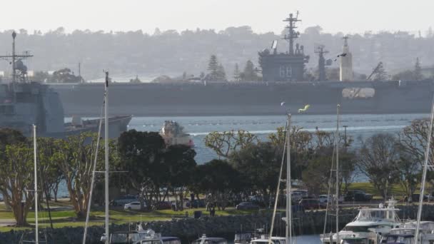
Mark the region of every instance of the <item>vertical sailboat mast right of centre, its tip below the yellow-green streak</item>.
<instances>
[{"instance_id":1,"label":"vertical sailboat mast right of centre, its tip below the yellow-green streak","mask_svg":"<svg viewBox=\"0 0 434 244\"><path fill-rule=\"evenodd\" d=\"M286 243L292 243L292 214L291 214L291 113L288 113L288 128L286 128Z\"/></svg>"}]
</instances>

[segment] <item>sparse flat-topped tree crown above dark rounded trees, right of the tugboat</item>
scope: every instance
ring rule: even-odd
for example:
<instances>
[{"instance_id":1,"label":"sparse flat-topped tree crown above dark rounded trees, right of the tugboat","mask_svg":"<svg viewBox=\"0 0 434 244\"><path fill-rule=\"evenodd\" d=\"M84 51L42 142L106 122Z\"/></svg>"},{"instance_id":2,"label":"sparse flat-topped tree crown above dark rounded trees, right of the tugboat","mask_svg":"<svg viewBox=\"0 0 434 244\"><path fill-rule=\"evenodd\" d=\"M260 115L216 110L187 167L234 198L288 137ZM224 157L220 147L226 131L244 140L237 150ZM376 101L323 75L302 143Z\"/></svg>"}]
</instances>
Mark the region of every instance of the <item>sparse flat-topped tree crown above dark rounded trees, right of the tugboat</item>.
<instances>
[{"instance_id":1,"label":"sparse flat-topped tree crown above dark rounded trees, right of the tugboat","mask_svg":"<svg viewBox=\"0 0 434 244\"><path fill-rule=\"evenodd\" d=\"M248 131L223 131L211 132L205 136L205 146L213 149L218 156L228 158L238 148L244 148L248 144L258 142L258 138Z\"/></svg>"}]
</instances>

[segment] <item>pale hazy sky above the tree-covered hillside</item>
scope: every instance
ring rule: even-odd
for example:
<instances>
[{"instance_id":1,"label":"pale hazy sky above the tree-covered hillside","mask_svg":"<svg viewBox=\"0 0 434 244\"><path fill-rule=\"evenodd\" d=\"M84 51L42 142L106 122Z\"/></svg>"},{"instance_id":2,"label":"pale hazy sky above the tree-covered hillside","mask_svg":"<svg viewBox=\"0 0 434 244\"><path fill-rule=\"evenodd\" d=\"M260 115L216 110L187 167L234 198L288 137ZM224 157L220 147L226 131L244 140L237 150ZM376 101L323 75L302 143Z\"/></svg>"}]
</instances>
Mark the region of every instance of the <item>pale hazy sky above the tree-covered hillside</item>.
<instances>
[{"instance_id":1,"label":"pale hazy sky above the tree-covered hillside","mask_svg":"<svg viewBox=\"0 0 434 244\"><path fill-rule=\"evenodd\" d=\"M280 33L282 19L300 11L300 29L422 31L434 26L434 0L3 0L0 29L130 31L226 29Z\"/></svg>"}]
</instances>

